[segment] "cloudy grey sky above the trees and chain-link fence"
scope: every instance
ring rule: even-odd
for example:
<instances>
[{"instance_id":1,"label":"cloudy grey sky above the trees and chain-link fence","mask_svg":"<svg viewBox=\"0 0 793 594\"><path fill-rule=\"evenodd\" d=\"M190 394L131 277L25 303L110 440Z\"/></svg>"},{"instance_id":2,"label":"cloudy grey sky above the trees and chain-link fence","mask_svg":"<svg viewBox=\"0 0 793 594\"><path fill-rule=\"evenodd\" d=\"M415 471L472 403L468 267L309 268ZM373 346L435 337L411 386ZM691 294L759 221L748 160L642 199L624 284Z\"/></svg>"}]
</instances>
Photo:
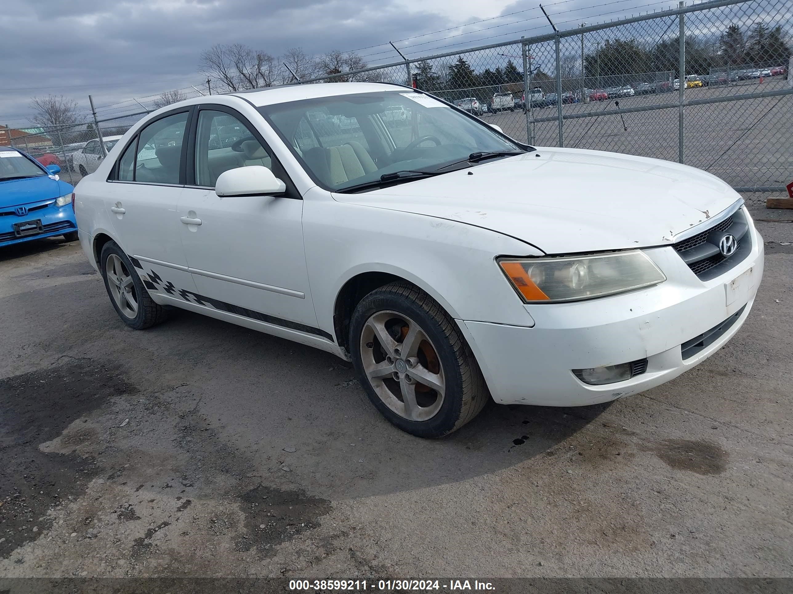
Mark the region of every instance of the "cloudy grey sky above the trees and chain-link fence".
<instances>
[{"instance_id":1,"label":"cloudy grey sky above the trees and chain-link fence","mask_svg":"<svg viewBox=\"0 0 793 594\"><path fill-rule=\"evenodd\" d=\"M672 3L543 6L569 29ZM131 97L199 85L199 56L213 44L240 42L272 55L293 47L309 54L360 49L374 64L398 59L388 45L370 48L389 40L418 57L550 29L537 0L6 0L2 13L0 124L11 126L27 122L34 95L73 97L87 112L91 93L109 116L139 109Z\"/></svg>"}]
</instances>

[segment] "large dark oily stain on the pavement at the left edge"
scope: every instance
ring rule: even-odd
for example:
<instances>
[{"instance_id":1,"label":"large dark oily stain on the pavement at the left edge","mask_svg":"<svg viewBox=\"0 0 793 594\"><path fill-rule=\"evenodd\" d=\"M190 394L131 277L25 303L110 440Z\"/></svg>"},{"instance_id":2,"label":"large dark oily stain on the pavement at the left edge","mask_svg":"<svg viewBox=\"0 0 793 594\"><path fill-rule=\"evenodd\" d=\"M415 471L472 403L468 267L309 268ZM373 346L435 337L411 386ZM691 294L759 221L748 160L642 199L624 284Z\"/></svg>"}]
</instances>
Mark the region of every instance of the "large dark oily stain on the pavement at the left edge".
<instances>
[{"instance_id":1,"label":"large dark oily stain on the pavement at the left edge","mask_svg":"<svg viewBox=\"0 0 793 594\"><path fill-rule=\"evenodd\" d=\"M52 524L48 509L82 494L99 470L93 459L45 454L39 444L130 391L116 367L90 359L0 379L0 557L37 539ZM81 436L89 438L89 432Z\"/></svg>"}]
</instances>

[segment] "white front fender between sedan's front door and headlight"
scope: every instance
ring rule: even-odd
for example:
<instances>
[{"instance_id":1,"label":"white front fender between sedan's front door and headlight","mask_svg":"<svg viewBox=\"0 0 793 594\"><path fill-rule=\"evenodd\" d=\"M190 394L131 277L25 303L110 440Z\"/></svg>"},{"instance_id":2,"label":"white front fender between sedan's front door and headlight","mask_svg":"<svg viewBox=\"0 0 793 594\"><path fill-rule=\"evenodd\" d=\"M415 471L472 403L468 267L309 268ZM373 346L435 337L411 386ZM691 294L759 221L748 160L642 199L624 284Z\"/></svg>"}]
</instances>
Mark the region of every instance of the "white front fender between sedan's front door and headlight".
<instances>
[{"instance_id":1,"label":"white front fender between sedan's front door and headlight","mask_svg":"<svg viewBox=\"0 0 793 594\"><path fill-rule=\"evenodd\" d=\"M534 325L495 261L541 255L515 238L427 215L310 199L303 230L316 316L328 332L339 291L362 272L408 280L456 319Z\"/></svg>"}]
</instances>

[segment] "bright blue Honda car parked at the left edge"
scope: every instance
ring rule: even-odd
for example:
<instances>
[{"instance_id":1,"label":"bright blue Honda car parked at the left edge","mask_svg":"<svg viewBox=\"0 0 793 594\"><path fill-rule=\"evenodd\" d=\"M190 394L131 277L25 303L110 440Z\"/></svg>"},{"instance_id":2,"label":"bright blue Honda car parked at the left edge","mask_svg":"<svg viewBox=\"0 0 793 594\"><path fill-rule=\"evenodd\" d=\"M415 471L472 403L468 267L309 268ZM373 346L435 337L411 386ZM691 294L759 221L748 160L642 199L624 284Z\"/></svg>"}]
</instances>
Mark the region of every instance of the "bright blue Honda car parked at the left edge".
<instances>
[{"instance_id":1,"label":"bright blue Honda car parked at the left edge","mask_svg":"<svg viewBox=\"0 0 793 594\"><path fill-rule=\"evenodd\" d=\"M44 167L10 147L0 147L0 247L63 235L77 241L70 184L58 179L60 167Z\"/></svg>"}]
</instances>

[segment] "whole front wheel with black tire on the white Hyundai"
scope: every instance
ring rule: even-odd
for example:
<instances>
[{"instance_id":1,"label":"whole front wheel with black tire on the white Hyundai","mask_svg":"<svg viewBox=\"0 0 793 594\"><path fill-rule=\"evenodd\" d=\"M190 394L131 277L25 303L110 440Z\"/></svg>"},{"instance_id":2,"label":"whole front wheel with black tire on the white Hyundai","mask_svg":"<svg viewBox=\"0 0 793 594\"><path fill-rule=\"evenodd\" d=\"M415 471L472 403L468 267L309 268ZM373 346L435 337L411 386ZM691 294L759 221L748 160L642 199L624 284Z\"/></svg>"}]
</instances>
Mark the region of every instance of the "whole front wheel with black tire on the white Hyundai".
<instances>
[{"instance_id":1,"label":"whole front wheel with black tire on the white Hyundai","mask_svg":"<svg viewBox=\"0 0 793 594\"><path fill-rule=\"evenodd\" d=\"M410 284L387 284L358 303L350 346L366 395L404 432L444 436L488 402L485 379L454 320Z\"/></svg>"}]
</instances>

